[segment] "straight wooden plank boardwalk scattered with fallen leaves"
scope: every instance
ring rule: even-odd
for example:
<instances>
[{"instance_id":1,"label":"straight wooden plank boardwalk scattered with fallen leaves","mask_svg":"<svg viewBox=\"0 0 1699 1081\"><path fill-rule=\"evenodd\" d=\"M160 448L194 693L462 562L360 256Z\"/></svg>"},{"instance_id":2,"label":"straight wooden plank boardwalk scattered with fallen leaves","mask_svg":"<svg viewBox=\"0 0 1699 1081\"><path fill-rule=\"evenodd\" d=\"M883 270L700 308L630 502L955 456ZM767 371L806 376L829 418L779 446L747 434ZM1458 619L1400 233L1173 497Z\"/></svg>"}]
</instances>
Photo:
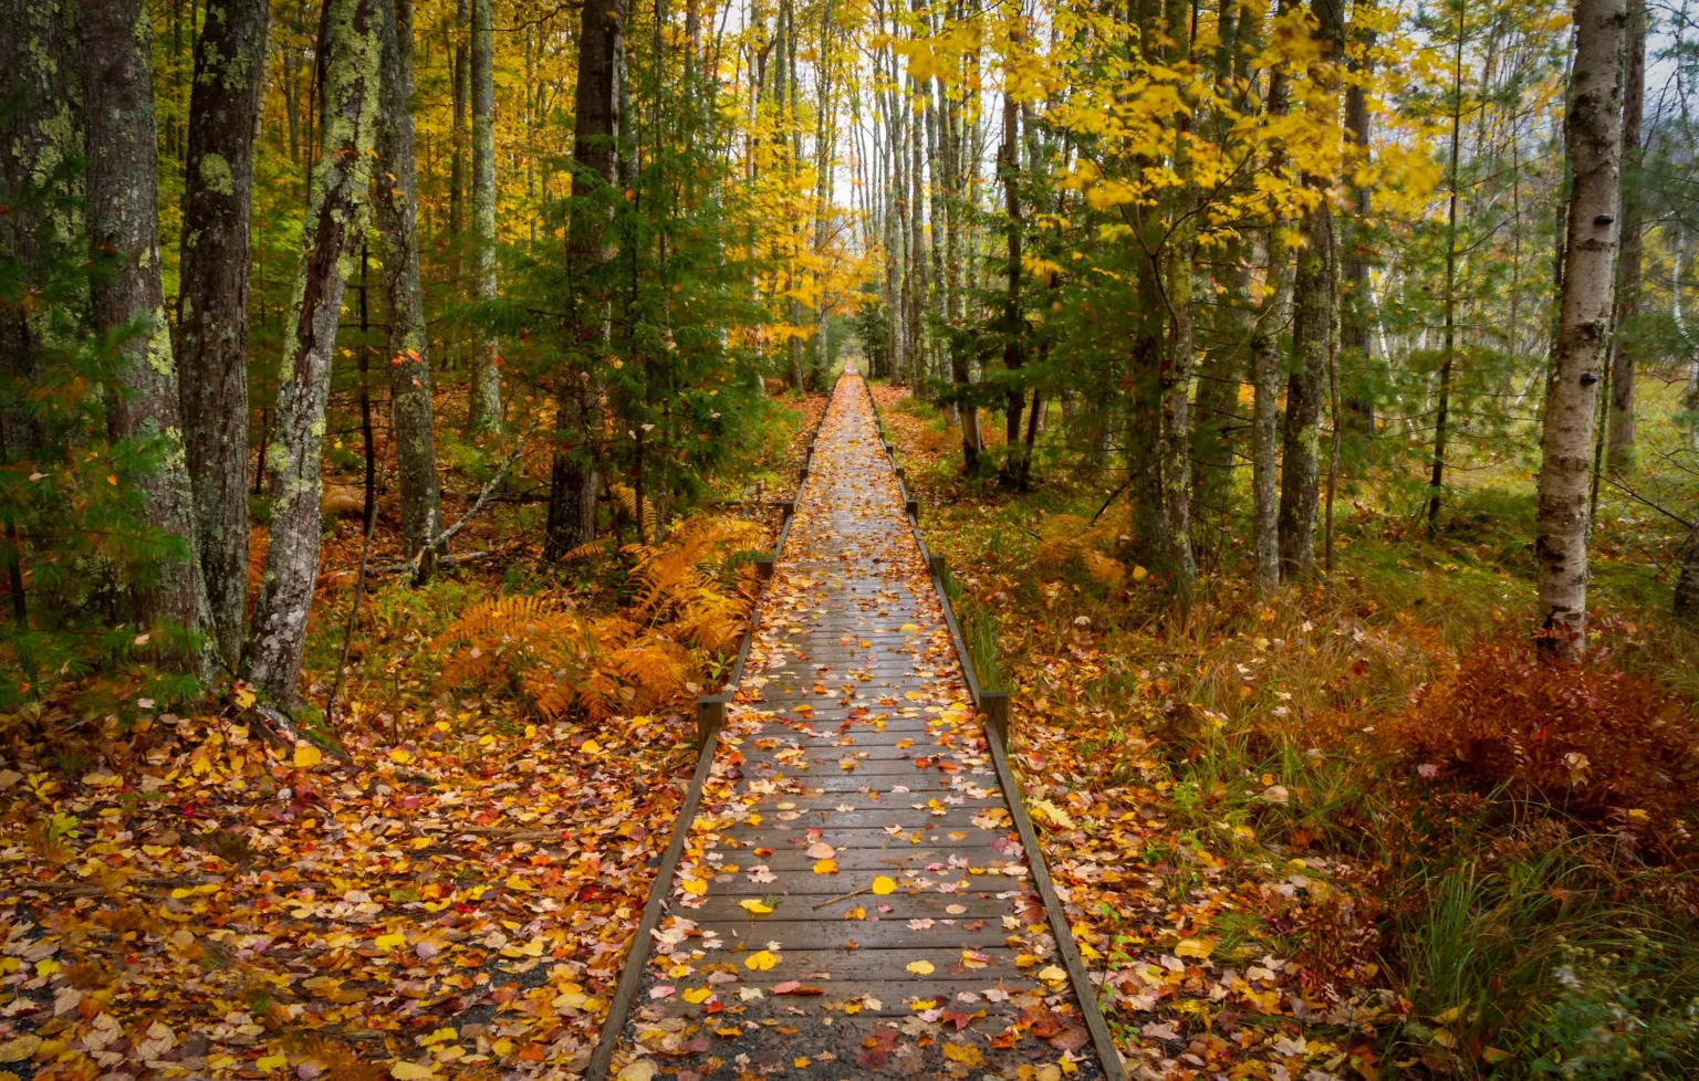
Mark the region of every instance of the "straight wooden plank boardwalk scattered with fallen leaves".
<instances>
[{"instance_id":1,"label":"straight wooden plank boardwalk scattered with fallen leaves","mask_svg":"<svg viewBox=\"0 0 1699 1081\"><path fill-rule=\"evenodd\" d=\"M853 370L729 691L613 1069L1099 1076Z\"/></svg>"}]
</instances>

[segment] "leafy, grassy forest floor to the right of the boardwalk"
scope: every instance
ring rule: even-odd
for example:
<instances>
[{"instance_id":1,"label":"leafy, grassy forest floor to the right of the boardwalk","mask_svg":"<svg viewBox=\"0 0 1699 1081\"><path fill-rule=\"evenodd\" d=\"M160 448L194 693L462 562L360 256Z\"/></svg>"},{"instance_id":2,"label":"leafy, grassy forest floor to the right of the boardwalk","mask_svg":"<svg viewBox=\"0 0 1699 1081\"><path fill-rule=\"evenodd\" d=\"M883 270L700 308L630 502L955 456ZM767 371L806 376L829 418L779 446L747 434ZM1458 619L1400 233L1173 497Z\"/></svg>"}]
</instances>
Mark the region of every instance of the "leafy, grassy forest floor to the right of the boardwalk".
<instances>
[{"instance_id":1,"label":"leafy, grassy forest floor to the right of the boardwalk","mask_svg":"<svg viewBox=\"0 0 1699 1081\"><path fill-rule=\"evenodd\" d=\"M967 480L875 394L1135 1073L1694 1076L1691 631L1606 587L1595 660L1532 662L1497 492L1441 541L1364 494L1334 579L1267 599L1206 550L1176 608L1108 485L1043 443L1031 494Z\"/></svg>"}]
</instances>

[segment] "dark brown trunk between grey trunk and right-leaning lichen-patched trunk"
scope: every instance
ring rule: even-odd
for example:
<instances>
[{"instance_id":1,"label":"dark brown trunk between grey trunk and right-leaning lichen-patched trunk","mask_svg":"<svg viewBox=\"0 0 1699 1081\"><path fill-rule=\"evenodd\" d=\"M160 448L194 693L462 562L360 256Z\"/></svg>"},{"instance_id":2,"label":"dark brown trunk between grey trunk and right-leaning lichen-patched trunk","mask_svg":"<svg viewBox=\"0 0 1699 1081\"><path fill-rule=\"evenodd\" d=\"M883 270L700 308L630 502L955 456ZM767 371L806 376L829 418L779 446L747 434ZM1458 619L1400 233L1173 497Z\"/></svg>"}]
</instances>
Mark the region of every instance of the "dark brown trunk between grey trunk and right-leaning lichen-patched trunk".
<instances>
[{"instance_id":1,"label":"dark brown trunk between grey trunk and right-leaning lichen-patched trunk","mask_svg":"<svg viewBox=\"0 0 1699 1081\"><path fill-rule=\"evenodd\" d=\"M248 219L267 0L211 0L189 100L177 360L195 555L224 664L248 619Z\"/></svg>"}]
</instances>

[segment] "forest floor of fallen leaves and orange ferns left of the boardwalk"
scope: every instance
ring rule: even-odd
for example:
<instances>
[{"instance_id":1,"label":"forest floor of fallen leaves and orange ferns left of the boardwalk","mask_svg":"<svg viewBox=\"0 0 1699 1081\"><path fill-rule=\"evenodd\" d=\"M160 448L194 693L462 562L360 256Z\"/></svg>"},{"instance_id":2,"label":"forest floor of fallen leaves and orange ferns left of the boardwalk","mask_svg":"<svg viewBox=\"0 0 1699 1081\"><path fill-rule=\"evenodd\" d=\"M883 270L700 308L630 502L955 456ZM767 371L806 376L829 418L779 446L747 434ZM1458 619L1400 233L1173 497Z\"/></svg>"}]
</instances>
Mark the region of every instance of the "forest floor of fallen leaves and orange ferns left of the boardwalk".
<instances>
[{"instance_id":1,"label":"forest floor of fallen leaves and orange ferns left of the boardwalk","mask_svg":"<svg viewBox=\"0 0 1699 1081\"><path fill-rule=\"evenodd\" d=\"M0 1081L581 1069L695 764L691 697L746 623L754 567L734 550L770 543L822 407L776 409L717 512L600 574L533 570L545 448L523 462L460 545L496 557L374 584L323 730L341 753L263 738L240 687L178 716L92 679L0 718ZM362 548L357 518L330 529L313 703ZM386 502L374 567L392 531ZM644 569L675 575L659 604L708 587L712 647L622 626L688 614L635 596ZM586 630L612 682L567 711L539 662Z\"/></svg>"}]
</instances>

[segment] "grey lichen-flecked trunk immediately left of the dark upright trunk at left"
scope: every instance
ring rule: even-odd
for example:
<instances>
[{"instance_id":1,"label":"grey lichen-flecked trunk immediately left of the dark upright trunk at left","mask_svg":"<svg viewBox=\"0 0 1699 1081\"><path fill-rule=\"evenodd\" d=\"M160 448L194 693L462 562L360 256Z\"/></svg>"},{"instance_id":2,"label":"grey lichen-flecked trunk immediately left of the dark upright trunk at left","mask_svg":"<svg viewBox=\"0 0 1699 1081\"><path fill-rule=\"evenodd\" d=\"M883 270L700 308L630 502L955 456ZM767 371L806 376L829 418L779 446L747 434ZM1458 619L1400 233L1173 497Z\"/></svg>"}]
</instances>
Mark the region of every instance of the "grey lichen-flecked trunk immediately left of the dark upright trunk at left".
<instances>
[{"instance_id":1,"label":"grey lichen-flecked trunk immediately left of the dark upright trunk at left","mask_svg":"<svg viewBox=\"0 0 1699 1081\"><path fill-rule=\"evenodd\" d=\"M146 25L141 0L83 0L78 7L88 246L114 260L107 273L93 278L90 300L95 331L117 336L109 434L148 448L138 467L121 470L119 484L141 492L148 524L172 545L170 555L158 560L158 580L136 584L136 616L143 625L168 619L197 630L206 587L194 558L194 492L160 280L153 46Z\"/></svg>"}]
</instances>

